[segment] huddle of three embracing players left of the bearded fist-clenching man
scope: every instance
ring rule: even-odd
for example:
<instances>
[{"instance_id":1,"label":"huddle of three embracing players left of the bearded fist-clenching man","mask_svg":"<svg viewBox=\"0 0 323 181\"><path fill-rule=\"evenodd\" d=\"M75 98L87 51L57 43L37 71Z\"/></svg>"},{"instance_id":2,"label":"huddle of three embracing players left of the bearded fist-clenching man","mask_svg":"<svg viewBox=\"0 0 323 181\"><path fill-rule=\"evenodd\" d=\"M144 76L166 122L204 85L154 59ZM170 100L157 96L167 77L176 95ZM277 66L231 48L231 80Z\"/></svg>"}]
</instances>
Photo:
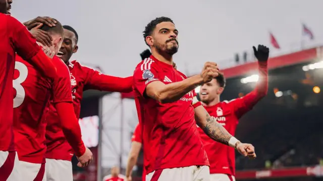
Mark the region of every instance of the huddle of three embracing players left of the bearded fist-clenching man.
<instances>
[{"instance_id":1,"label":"huddle of three embracing players left of the bearded fist-clenching man","mask_svg":"<svg viewBox=\"0 0 323 181\"><path fill-rule=\"evenodd\" d=\"M76 31L49 17L24 26L8 15L11 3L0 0L0 180L73 180L73 154L78 166L92 160L78 124L83 91L131 92L132 77L70 62Z\"/></svg>"}]
</instances>

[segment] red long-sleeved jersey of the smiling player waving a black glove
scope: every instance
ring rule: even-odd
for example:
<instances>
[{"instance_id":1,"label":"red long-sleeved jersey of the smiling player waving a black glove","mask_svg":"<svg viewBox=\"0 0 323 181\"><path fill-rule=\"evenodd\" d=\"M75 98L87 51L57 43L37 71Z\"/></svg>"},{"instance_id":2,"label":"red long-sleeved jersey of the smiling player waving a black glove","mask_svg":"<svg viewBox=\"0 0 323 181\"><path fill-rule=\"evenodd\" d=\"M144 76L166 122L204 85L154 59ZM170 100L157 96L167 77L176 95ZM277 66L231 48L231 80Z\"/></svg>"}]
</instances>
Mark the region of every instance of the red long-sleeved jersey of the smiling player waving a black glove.
<instances>
[{"instance_id":1,"label":"red long-sleeved jersey of the smiling player waving a black glove","mask_svg":"<svg viewBox=\"0 0 323 181\"><path fill-rule=\"evenodd\" d=\"M244 97L233 99L230 102L219 102L213 106L204 106L231 135L235 135L239 118L251 110L253 106L267 94L268 74L265 63L259 64L259 80L256 88ZM201 128L198 128L205 148L210 173L224 173L235 175L235 150L232 147L210 139Z\"/></svg>"}]
</instances>

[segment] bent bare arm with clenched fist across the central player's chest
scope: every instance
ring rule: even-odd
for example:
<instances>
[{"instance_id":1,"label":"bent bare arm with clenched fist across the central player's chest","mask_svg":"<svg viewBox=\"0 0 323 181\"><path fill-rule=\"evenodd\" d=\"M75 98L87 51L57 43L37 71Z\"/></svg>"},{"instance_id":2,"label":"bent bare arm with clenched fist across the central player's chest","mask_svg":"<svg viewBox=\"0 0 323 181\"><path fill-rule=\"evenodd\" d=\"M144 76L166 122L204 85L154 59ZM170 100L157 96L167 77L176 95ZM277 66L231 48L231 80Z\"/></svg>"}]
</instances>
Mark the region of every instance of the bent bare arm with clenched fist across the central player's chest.
<instances>
[{"instance_id":1,"label":"bent bare arm with clenched fist across the central player's chest","mask_svg":"<svg viewBox=\"0 0 323 181\"><path fill-rule=\"evenodd\" d=\"M212 80L219 75L216 63L205 63L200 75L192 76L180 82L164 84L161 81L153 81L146 87L146 95L161 103L169 103L179 100L189 91ZM154 77L150 78L154 80ZM148 79L149 81L149 79Z\"/></svg>"}]
</instances>

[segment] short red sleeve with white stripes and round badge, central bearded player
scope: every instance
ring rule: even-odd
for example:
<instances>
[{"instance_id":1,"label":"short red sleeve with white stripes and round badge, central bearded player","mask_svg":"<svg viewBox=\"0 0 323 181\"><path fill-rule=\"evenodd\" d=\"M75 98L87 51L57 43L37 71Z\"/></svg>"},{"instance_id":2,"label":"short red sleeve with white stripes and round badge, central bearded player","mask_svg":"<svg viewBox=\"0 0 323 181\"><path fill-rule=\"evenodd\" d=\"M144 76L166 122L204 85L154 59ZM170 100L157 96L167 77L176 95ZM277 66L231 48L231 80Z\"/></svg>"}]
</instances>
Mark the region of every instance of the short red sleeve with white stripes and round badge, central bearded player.
<instances>
[{"instance_id":1,"label":"short red sleeve with white stripes and round badge, central bearded player","mask_svg":"<svg viewBox=\"0 0 323 181\"><path fill-rule=\"evenodd\" d=\"M154 62L151 59L148 62L142 61L133 73L134 89L144 96L147 85L154 81L159 81Z\"/></svg>"}]
</instances>

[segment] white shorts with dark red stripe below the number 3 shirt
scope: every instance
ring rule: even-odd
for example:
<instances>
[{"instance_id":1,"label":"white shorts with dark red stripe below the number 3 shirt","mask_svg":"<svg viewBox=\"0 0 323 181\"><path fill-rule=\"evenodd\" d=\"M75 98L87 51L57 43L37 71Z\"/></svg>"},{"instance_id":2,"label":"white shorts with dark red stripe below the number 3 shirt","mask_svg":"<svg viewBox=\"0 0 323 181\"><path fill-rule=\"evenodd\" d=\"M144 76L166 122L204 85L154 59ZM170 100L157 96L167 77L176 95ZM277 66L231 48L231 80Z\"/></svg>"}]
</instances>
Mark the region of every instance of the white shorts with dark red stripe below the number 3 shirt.
<instances>
[{"instance_id":1,"label":"white shorts with dark red stripe below the number 3 shirt","mask_svg":"<svg viewBox=\"0 0 323 181\"><path fill-rule=\"evenodd\" d=\"M26 181L46 181L45 163L19 161L20 174Z\"/></svg>"}]
</instances>

